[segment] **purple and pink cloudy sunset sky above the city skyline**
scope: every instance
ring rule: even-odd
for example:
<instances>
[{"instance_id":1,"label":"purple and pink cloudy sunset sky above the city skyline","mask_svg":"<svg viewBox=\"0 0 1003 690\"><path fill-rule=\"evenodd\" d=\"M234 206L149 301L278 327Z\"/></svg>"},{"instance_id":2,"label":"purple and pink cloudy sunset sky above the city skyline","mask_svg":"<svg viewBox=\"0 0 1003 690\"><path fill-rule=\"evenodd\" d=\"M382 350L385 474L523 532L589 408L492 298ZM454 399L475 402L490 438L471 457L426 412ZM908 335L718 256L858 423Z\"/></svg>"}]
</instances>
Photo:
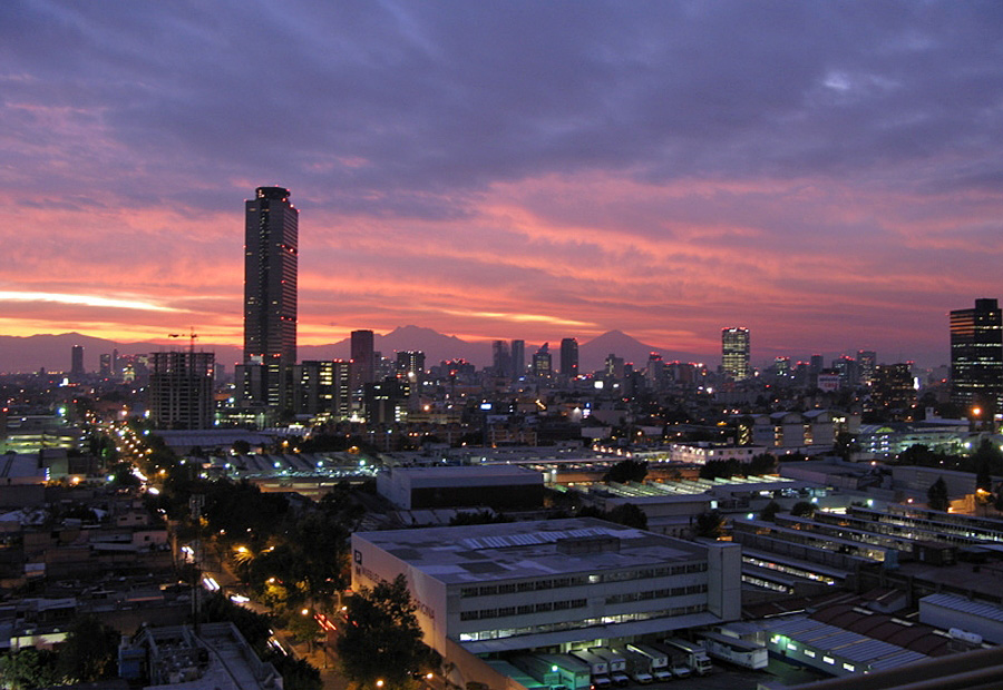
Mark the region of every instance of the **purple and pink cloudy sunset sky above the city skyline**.
<instances>
[{"instance_id":1,"label":"purple and pink cloudy sunset sky above the city skyline","mask_svg":"<svg viewBox=\"0 0 1003 690\"><path fill-rule=\"evenodd\" d=\"M243 207L299 339L611 329L947 361L1003 298L1003 3L0 3L0 334L240 344Z\"/></svg>"}]
</instances>

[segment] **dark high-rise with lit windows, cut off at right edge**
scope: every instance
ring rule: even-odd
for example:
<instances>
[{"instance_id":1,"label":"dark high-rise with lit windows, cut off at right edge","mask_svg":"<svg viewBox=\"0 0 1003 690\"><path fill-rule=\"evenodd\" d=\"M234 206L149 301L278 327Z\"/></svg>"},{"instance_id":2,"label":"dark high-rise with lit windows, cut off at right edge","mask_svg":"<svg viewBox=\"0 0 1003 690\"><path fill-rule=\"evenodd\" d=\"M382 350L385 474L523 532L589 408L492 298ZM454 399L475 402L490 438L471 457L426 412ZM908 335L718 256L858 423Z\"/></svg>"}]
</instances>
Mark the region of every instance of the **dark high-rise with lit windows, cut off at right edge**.
<instances>
[{"instance_id":1,"label":"dark high-rise with lit windows, cut off at right edge","mask_svg":"<svg viewBox=\"0 0 1003 690\"><path fill-rule=\"evenodd\" d=\"M995 299L951 312L951 402L1003 412L1003 312Z\"/></svg>"}]
</instances>

